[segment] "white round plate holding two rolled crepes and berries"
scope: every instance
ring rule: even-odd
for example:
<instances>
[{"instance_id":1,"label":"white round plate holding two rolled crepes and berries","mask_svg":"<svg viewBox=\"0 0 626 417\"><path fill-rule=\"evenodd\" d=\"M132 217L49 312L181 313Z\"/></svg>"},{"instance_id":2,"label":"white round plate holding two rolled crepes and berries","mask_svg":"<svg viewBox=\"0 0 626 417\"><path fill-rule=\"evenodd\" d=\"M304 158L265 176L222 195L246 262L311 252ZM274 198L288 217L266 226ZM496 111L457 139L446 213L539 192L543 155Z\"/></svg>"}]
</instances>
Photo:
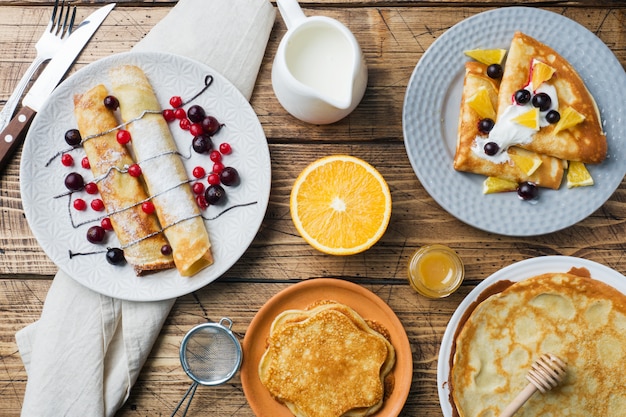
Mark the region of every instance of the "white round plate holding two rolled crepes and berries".
<instances>
[{"instance_id":1,"label":"white round plate holding two rolled crepes and berries","mask_svg":"<svg viewBox=\"0 0 626 417\"><path fill-rule=\"evenodd\" d=\"M214 136L217 146L229 142L233 152L223 162L235 167L241 182L236 187L224 187L228 201L224 206L211 206L203 212L213 217L224 208L245 203L256 203L237 207L215 220L207 221L212 243L214 264L191 278L181 277L176 269L137 277L131 266L112 266L104 254L69 257L72 252L90 252L116 246L117 239L108 233L106 245L93 245L85 238L87 229L94 223L74 228L69 213L76 220L101 215L91 209L84 213L68 209L68 198L54 198L67 189L65 176L72 171L80 172L85 180L89 170L80 167L84 150L72 151L74 166L64 167L57 158L46 167L46 163L58 151L65 150L64 135L76 127L73 114L73 96L87 91L98 83L109 85L108 69L121 64L141 67L163 108L171 107L169 98L174 95L184 100L192 98L204 86L207 75L214 82L194 103L205 108L207 114L215 116L225 126ZM211 170L212 162L207 155L198 155L190 149L191 135L171 125L171 131L183 155L188 173L201 165ZM190 175L190 178L193 178ZM204 181L205 185L206 180ZM250 104L241 93L222 75L212 68L194 60L162 53L124 53L95 62L61 84L50 96L44 108L37 114L25 141L20 166L20 189L28 223L46 254L71 277L101 294L115 298L151 301L173 298L195 291L226 272L246 251L263 221L269 201L271 166L269 148L261 124ZM82 193L87 202L92 196ZM97 224L97 223L96 223Z\"/></svg>"}]
</instances>

